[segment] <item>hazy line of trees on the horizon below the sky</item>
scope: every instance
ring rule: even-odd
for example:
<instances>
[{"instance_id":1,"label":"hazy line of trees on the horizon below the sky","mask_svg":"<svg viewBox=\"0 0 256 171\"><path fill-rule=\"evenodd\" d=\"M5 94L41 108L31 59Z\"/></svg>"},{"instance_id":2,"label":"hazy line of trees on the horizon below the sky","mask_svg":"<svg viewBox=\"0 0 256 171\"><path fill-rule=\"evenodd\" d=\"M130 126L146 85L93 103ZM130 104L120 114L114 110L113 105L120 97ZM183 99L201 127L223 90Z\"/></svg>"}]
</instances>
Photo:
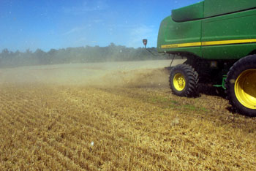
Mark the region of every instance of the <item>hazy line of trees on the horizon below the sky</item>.
<instances>
[{"instance_id":1,"label":"hazy line of trees on the horizon below the sky","mask_svg":"<svg viewBox=\"0 0 256 171\"><path fill-rule=\"evenodd\" d=\"M152 53L157 54L156 47L148 48ZM145 48L125 47L110 43L107 47L86 46L67 47L59 50L51 49L48 52L37 49L34 52L12 52L4 49L0 53L0 67L16 67L47 64L71 64L105 61L141 61L166 59L168 56L153 56Z\"/></svg>"}]
</instances>

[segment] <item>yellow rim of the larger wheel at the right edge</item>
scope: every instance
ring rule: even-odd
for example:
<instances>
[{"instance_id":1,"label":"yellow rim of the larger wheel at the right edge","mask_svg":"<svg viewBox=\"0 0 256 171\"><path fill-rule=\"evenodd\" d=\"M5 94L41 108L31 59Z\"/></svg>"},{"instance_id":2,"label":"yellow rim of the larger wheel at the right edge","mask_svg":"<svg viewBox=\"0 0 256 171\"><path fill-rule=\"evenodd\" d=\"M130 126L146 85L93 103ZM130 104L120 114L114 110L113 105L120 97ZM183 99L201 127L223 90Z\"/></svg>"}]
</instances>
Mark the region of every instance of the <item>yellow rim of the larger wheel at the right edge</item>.
<instances>
[{"instance_id":1,"label":"yellow rim of the larger wheel at the right edge","mask_svg":"<svg viewBox=\"0 0 256 171\"><path fill-rule=\"evenodd\" d=\"M235 94L238 101L245 107L256 109L256 69L247 69L238 76Z\"/></svg>"}]
</instances>

